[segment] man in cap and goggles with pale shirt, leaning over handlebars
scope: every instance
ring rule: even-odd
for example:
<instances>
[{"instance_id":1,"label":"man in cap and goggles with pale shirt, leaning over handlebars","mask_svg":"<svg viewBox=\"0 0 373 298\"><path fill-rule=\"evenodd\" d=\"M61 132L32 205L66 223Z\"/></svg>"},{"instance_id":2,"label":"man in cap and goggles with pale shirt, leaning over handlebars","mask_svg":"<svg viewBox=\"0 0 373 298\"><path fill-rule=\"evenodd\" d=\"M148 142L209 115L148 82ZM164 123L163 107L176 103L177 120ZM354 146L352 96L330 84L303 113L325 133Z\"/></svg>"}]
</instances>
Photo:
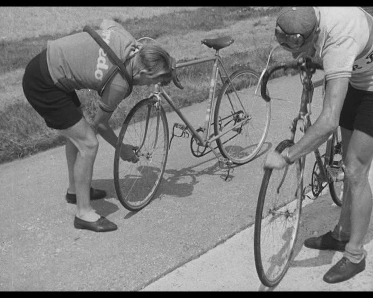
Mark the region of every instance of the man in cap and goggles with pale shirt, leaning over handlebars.
<instances>
[{"instance_id":1,"label":"man in cap and goggles with pale shirt, leaning over handlebars","mask_svg":"<svg viewBox=\"0 0 373 298\"><path fill-rule=\"evenodd\" d=\"M322 145L341 126L346 166L343 204L333 231L305 240L308 248L344 251L324 275L337 283L365 269L363 240L372 213L373 18L360 7L283 7L275 35L293 57L320 57L325 70L323 109L304 136L264 167L280 169Z\"/></svg>"}]
</instances>

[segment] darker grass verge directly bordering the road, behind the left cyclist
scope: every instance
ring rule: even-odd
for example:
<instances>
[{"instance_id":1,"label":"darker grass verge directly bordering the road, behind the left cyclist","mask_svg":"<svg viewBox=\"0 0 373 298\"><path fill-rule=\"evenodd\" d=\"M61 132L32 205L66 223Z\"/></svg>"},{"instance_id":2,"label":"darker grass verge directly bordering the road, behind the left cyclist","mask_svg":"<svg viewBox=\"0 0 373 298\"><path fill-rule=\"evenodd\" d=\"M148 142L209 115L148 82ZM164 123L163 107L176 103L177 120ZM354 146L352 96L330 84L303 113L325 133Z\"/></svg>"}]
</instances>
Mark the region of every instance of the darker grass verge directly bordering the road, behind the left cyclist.
<instances>
[{"instance_id":1,"label":"darker grass verge directly bordering the road, behind the left cyclist","mask_svg":"<svg viewBox=\"0 0 373 298\"><path fill-rule=\"evenodd\" d=\"M270 51L269 48L260 49L260 51L263 50L268 53ZM253 70L263 69L266 59L258 60L253 57L256 57L255 51L235 53L223 58L223 62L228 67L228 73L246 67ZM247 62L242 63L242 61ZM276 61L271 62L273 63ZM207 78L211 74L211 69L212 63L204 63L179 70L178 76L184 89L179 90L172 83L166 87L167 93L178 107L186 107L207 99L209 95ZM281 75L283 73L276 73L276 76ZM138 101L146 98L150 92L151 89L135 87L132 94L121 102L113 113L110 126L113 129L120 127L129 110ZM82 102L85 118L92 122L98 108L97 92L85 89L77 91L77 94ZM164 108L166 111L171 110L166 103ZM10 104L4 111L0 111L0 164L64 144L65 138L61 137L56 130L48 128L43 118L28 103Z\"/></svg>"}]
</instances>

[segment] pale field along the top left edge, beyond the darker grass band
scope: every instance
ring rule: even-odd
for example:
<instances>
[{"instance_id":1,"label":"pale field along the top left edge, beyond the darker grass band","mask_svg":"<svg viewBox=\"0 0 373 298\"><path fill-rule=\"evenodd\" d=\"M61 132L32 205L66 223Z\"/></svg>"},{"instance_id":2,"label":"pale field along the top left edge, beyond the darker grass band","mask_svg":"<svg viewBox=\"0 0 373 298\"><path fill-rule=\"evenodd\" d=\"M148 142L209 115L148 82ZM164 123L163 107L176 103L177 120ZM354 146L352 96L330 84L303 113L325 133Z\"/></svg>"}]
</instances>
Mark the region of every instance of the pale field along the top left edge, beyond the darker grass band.
<instances>
[{"instance_id":1,"label":"pale field along the top left edge, beyond the darker grass band","mask_svg":"<svg viewBox=\"0 0 373 298\"><path fill-rule=\"evenodd\" d=\"M66 34L90 25L100 18L150 18L180 10L194 10L191 6L96 6L96 7L1 7L0 41L40 35Z\"/></svg>"}]
</instances>

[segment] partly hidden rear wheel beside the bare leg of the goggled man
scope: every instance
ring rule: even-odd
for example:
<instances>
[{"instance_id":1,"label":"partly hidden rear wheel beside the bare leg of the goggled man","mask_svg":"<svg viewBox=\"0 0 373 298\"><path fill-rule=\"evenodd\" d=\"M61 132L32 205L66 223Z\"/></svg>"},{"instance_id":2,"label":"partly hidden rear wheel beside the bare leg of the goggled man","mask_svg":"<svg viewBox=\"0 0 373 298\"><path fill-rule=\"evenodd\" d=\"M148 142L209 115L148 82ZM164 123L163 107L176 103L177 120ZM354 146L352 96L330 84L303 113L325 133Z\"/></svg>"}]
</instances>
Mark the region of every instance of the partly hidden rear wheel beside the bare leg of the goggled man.
<instances>
[{"instance_id":1,"label":"partly hidden rear wheel beside the bare leg of the goggled man","mask_svg":"<svg viewBox=\"0 0 373 298\"><path fill-rule=\"evenodd\" d=\"M336 131L334 144L330 152L329 167L332 177L329 178L329 191L333 202L337 206L342 206L343 202L343 185L344 185L344 168L342 167L342 144L341 137L338 134L339 129ZM329 176L329 175L328 175Z\"/></svg>"}]
</instances>

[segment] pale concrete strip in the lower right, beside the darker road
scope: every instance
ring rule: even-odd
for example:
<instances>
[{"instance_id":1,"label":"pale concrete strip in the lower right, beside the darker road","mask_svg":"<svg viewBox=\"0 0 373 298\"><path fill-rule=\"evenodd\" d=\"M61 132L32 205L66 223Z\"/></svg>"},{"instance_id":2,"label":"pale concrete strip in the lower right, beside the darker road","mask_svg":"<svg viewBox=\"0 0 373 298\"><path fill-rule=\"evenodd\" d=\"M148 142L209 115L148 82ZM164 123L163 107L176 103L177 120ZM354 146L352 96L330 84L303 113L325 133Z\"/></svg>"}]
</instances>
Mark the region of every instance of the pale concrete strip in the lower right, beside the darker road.
<instances>
[{"instance_id":1,"label":"pale concrete strip in the lower right, beside the darker road","mask_svg":"<svg viewBox=\"0 0 373 298\"><path fill-rule=\"evenodd\" d=\"M329 268L342 257L335 251L318 251L302 246L305 238L327 232L339 216L339 208L328 193L303 205L295 258L283 280L275 288L258 279L253 253L254 225L170 272L142 291L372 291L373 223L366 237L366 269L346 282L328 284L322 280ZM320 216L320 211L321 216Z\"/></svg>"}]
</instances>

